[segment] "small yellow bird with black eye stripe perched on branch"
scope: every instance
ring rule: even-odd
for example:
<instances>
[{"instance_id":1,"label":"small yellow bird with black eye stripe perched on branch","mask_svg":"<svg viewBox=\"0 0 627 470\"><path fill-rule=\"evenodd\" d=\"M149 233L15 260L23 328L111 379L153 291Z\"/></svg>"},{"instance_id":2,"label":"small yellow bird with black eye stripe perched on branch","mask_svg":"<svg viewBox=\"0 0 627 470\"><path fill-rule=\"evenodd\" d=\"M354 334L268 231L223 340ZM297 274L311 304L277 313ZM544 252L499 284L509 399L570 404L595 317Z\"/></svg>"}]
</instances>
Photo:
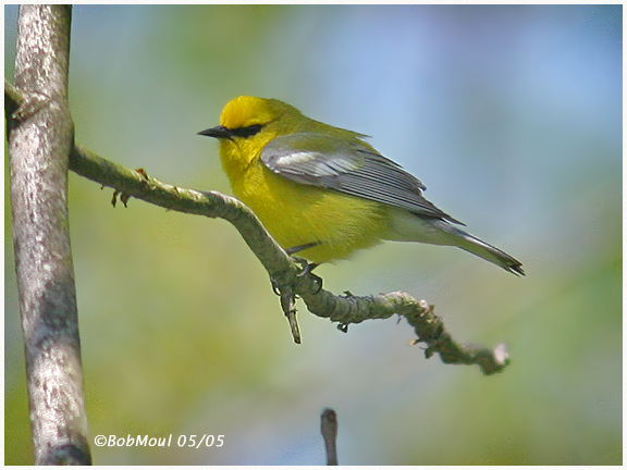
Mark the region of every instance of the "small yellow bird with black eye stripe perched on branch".
<instances>
[{"instance_id":1,"label":"small yellow bird with black eye stripe perched on branch","mask_svg":"<svg viewBox=\"0 0 627 470\"><path fill-rule=\"evenodd\" d=\"M323 263L384 239L420 242L456 246L525 275L520 261L453 225L462 223L425 199L422 183L362 134L247 96L198 134L220 140L235 197L288 252Z\"/></svg>"}]
</instances>

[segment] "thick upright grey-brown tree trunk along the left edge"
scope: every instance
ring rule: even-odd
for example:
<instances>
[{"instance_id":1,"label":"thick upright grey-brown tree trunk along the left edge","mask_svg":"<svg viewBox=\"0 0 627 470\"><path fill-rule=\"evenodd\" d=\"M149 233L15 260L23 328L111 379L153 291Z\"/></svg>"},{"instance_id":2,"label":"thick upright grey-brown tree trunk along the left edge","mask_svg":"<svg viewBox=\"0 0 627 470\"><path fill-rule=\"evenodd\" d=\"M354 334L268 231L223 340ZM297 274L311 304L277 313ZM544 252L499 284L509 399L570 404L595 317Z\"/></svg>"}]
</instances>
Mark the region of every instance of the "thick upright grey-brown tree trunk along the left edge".
<instances>
[{"instance_id":1,"label":"thick upright grey-brown tree trunk along the left edge","mask_svg":"<svg viewBox=\"0 0 627 470\"><path fill-rule=\"evenodd\" d=\"M15 84L23 99L5 108L36 465L91 461L67 218L71 20L66 5L20 8Z\"/></svg>"}]
</instances>

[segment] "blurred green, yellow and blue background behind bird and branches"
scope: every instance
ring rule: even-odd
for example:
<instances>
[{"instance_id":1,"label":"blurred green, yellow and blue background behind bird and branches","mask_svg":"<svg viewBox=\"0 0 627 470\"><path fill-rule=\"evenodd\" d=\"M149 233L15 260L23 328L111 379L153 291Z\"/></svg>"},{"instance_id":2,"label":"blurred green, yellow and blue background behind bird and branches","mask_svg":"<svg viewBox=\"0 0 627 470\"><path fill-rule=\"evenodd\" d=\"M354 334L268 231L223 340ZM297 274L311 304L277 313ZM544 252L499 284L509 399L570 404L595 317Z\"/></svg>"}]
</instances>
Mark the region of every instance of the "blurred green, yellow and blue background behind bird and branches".
<instances>
[{"instance_id":1,"label":"blurred green, yellow and blue background behind bird and branches","mask_svg":"<svg viewBox=\"0 0 627 470\"><path fill-rule=\"evenodd\" d=\"M12 81L16 7L5 7ZM74 174L70 211L89 432L223 434L222 448L93 447L98 465L622 462L622 5L77 5L76 140L162 181L229 193L196 135L238 95L373 136L517 279L460 250L386 243L327 288L406 290L459 339L508 345L496 376L426 360L401 321L339 332L226 222ZM5 152L7 153L7 152ZM7 160L7 157L5 157ZM5 461L32 462L5 172Z\"/></svg>"}]
</instances>

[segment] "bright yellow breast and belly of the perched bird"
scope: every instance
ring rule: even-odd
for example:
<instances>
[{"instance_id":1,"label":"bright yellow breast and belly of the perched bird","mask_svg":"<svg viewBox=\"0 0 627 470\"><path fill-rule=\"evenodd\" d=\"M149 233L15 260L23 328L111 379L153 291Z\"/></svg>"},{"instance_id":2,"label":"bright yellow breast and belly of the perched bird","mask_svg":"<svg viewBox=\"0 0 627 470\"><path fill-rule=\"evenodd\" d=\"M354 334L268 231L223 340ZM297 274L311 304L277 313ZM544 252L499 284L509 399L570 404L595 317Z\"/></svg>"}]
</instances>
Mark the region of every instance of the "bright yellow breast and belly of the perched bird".
<instances>
[{"instance_id":1,"label":"bright yellow breast and belly of the perched bird","mask_svg":"<svg viewBox=\"0 0 627 470\"><path fill-rule=\"evenodd\" d=\"M239 176L231 176L235 197L283 248L320 243L298 257L317 263L347 258L378 244L388 231L388 209L378 202L294 183L259 161Z\"/></svg>"}]
</instances>

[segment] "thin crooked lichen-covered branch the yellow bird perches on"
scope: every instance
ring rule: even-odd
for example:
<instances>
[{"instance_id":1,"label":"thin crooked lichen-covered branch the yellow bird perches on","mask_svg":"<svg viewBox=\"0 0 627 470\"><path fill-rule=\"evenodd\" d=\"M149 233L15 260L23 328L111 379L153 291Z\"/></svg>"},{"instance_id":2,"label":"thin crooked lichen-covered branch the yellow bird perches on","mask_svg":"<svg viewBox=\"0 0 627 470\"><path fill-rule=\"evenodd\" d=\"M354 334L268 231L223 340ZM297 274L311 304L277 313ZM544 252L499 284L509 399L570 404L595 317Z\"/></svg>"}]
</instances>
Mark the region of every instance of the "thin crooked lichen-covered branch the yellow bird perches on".
<instances>
[{"instance_id":1,"label":"thin crooked lichen-covered branch the yellow bird perches on","mask_svg":"<svg viewBox=\"0 0 627 470\"><path fill-rule=\"evenodd\" d=\"M7 84L5 90L7 101L11 101L11 86ZM427 358L437 354L445 363L477 364L487 375L501 372L508 364L504 345L492 350L456 343L446 332L441 318L433 312L433 306L426 300L401 292L358 297L351 294L336 296L322 289L320 279L311 273L302 275L302 267L274 242L257 217L235 198L217 191L197 191L161 183L143 171L130 170L79 146L74 147L70 169L146 202L228 220L235 225L281 292L293 289L311 313L339 322L343 330L351 323L398 314L414 327L416 343L426 343Z\"/></svg>"}]
</instances>

